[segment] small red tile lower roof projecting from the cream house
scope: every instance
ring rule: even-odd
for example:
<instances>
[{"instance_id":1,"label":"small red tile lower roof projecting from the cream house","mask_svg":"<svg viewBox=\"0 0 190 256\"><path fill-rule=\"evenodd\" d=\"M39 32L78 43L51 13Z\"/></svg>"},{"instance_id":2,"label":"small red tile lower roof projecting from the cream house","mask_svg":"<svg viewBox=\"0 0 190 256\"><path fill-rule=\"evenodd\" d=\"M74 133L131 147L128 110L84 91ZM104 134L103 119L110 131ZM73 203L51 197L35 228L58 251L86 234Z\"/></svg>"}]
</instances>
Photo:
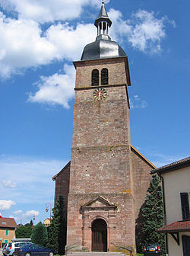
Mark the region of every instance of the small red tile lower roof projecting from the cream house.
<instances>
[{"instance_id":1,"label":"small red tile lower roof projecting from the cream house","mask_svg":"<svg viewBox=\"0 0 190 256\"><path fill-rule=\"evenodd\" d=\"M158 229L159 233L190 232L190 220L173 222Z\"/></svg>"}]
</instances>

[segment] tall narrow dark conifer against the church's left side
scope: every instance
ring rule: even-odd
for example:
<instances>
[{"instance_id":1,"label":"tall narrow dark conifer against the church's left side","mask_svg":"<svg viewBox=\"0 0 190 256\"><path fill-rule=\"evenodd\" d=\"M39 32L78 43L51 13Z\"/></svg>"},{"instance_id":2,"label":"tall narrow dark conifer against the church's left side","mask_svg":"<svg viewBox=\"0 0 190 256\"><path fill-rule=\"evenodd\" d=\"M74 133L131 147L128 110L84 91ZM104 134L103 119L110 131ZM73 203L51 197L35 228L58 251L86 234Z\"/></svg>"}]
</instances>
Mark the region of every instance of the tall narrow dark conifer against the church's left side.
<instances>
[{"instance_id":1,"label":"tall narrow dark conifer against the church's left side","mask_svg":"<svg viewBox=\"0 0 190 256\"><path fill-rule=\"evenodd\" d=\"M59 254L64 253L66 244L66 218L63 213L64 202L59 196L55 207L52 209L52 221L48 228L48 248L52 248Z\"/></svg>"}]
</instances>

